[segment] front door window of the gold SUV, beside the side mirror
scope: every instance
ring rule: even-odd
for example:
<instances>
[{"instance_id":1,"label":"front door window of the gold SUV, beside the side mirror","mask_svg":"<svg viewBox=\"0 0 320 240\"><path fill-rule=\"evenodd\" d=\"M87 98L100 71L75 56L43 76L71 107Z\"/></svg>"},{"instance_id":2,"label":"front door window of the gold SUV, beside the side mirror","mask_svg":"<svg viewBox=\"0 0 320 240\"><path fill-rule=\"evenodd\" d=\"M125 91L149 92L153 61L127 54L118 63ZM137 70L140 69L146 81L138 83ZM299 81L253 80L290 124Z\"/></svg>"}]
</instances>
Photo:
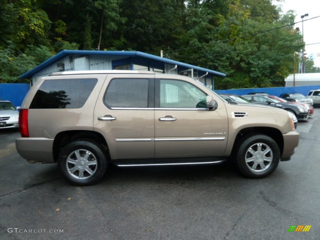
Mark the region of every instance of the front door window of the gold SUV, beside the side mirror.
<instances>
[{"instance_id":1,"label":"front door window of the gold SUV, beside the side mirror","mask_svg":"<svg viewBox=\"0 0 320 240\"><path fill-rule=\"evenodd\" d=\"M206 94L180 80L160 80L160 108L205 108Z\"/></svg>"}]
</instances>

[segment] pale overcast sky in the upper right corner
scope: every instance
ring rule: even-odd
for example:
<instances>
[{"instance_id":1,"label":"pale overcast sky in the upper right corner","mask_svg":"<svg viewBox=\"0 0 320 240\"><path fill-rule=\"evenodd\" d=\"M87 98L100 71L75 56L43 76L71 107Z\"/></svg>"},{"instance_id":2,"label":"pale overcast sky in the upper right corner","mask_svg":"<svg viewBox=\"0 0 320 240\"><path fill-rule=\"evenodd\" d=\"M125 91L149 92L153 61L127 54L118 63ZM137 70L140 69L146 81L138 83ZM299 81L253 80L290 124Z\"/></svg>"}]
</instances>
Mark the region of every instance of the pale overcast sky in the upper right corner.
<instances>
[{"instance_id":1,"label":"pale overcast sky in the upper right corner","mask_svg":"<svg viewBox=\"0 0 320 240\"><path fill-rule=\"evenodd\" d=\"M314 57L315 66L320 67L320 0L284 0L282 3L274 2L281 5L282 11L286 13L293 10L296 13L297 23L294 28L299 28L302 33L301 16L306 13L308 17L303 18L303 40L306 43L308 57ZM314 18L314 19L312 19ZM309 44L309 45L308 45Z\"/></svg>"}]
</instances>

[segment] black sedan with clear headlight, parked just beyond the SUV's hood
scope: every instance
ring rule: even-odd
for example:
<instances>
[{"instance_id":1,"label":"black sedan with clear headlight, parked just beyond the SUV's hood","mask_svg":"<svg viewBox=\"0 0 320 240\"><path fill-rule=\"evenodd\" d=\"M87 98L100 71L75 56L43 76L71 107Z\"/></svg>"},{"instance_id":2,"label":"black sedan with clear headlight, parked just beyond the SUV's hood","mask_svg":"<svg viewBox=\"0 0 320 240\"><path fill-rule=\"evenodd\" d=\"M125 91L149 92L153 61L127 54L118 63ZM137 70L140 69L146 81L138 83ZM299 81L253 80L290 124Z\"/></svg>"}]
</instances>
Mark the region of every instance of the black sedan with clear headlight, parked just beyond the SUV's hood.
<instances>
[{"instance_id":1,"label":"black sedan with clear headlight, parked just beyond the SUV's hood","mask_svg":"<svg viewBox=\"0 0 320 240\"><path fill-rule=\"evenodd\" d=\"M292 112L298 119L308 118L309 112L308 109L304 106L298 106L291 103L280 102L275 99L271 99L268 96L264 95L243 95L245 99L251 101L252 103L267 105L276 108L282 108L289 112Z\"/></svg>"}]
</instances>

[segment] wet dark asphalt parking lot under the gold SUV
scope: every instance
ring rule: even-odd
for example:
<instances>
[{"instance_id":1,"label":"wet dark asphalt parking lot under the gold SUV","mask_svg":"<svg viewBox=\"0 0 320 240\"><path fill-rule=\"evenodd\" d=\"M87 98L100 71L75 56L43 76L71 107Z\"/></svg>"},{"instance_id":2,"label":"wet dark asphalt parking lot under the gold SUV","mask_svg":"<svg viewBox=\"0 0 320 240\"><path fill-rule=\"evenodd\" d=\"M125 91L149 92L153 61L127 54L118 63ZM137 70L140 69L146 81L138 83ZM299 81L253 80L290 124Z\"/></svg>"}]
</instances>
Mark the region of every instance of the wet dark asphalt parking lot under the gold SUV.
<instances>
[{"instance_id":1,"label":"wet dark asphalt parking lot under the gold SUV","mask_svg":"<svg viewBox=\"0 0 320 240\"><path fill-rule=\"evenodd\" d=\"M271 176L228 164L111 167L97 185L66 183L55 164L29 164L17 131L0 132L0 239L319 239L320 108ZM288 232L311 225L308 232Z\"/></svg>"}]
</instances>

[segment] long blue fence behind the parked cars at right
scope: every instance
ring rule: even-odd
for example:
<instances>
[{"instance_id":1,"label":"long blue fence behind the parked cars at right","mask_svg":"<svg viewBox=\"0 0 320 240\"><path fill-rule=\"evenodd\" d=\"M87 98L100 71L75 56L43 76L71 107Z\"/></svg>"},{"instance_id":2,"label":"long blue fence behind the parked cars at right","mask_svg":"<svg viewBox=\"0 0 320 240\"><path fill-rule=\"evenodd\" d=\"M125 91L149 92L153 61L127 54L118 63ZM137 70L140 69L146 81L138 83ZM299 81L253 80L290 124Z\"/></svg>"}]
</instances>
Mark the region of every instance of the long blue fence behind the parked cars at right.
<instances>
[{"instance_id":1,"label":"long blue fence behind the parked cars at right","mask_svg":"<svg viewBox=\"0 0 320 240\"><path fill-rule=\"evenodd\" d=\"M285 92L299 92L307 95L310 90L320 89L320 85L312 86L295 86L295 87L268 87L268 88L245 88L245 89L229 89L229 90L215 90L216 93L245 95L250 92L266 92L269 95L279 96Z\"/></svg>"}]
</instances>

